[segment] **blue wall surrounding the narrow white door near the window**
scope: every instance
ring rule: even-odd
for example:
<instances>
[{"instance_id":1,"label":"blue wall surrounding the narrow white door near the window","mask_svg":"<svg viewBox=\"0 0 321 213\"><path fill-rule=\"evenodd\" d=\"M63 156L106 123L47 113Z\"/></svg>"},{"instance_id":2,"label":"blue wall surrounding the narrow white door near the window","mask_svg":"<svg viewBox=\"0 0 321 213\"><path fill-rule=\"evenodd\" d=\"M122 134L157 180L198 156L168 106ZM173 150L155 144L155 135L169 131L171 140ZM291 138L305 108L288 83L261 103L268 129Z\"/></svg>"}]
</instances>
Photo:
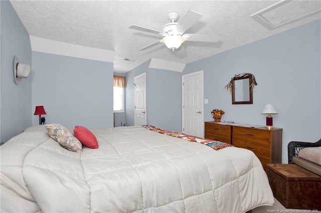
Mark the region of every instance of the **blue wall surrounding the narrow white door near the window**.
<instances>
[{"instance_id":1,"label":"blue wall surrounding the narrow white door near the window","mask_svg":"<svg viewBox=\"0 0 321 213\"><path fill-rule=\"evenodd\" d=\"M145 72L147 124L182 131L182 73L149 68L149 62L126 73L126 125L134 125L134 77Z\"/></svg>"}]
</instances>

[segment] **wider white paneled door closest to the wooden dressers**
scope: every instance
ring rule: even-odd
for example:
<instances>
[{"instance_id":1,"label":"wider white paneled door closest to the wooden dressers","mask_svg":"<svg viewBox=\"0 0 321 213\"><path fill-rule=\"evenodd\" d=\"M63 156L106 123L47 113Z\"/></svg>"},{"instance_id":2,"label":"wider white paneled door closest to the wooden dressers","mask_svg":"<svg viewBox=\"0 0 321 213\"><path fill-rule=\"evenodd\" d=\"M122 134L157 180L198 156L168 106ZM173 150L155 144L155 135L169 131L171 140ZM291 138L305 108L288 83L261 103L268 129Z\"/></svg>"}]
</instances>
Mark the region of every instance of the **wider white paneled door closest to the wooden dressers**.
<instances>
[{"instance_id":1,"label":"wider white paneled door closest to the wooden dressers","mask_svg":"<svg viewBox=\"0 0 321 213\"><path fill-rule=\"evenodd\" d=\"M182 76L183 132L204 137L203 71Z\"/></svg>"}]
</instances>

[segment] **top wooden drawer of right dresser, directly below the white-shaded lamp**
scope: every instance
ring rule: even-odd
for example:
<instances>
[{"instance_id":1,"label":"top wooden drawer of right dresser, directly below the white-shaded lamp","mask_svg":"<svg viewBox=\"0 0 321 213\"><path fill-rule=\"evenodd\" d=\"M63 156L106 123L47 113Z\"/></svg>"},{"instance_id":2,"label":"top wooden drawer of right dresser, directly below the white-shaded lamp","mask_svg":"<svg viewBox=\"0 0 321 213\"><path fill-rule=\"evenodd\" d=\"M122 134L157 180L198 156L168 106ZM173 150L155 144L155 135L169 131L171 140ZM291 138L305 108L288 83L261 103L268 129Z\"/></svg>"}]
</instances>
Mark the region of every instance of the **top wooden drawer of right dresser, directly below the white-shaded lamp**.
<instances>
[{"instance_id":1,"label":"top wooden drawer of right dresser, directly below the white-shaded lamp","mask_svg":"<svg viewBox=\"0 0 321 213\"><path fill-rule=\"evenodd\" d=\"M240 138L269 145L271 133L270 131L259 128L234 126L233 138Z\"/></svg>"}]
</instances>

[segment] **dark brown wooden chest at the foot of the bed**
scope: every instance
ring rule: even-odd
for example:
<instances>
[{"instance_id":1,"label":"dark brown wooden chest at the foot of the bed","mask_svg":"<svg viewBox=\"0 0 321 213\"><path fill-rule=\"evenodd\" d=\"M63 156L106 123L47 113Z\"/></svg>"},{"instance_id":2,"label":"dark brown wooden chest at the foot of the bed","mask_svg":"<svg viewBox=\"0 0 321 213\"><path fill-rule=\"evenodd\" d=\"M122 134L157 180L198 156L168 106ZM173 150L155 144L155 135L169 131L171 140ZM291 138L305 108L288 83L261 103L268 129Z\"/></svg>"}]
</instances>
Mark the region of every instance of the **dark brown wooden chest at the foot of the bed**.
<instances>
[{"instance_id":1,"label":"dark brown wooden chest at the foot of the bed","mask_svg":"<svg viewBox=\"0 0 321 213\"><path fill-rule=\"evenodd\" d=\"M321 209L321 176L296 164L267 164L274 197L286 208Z\"/></svg>"}]
</instances>

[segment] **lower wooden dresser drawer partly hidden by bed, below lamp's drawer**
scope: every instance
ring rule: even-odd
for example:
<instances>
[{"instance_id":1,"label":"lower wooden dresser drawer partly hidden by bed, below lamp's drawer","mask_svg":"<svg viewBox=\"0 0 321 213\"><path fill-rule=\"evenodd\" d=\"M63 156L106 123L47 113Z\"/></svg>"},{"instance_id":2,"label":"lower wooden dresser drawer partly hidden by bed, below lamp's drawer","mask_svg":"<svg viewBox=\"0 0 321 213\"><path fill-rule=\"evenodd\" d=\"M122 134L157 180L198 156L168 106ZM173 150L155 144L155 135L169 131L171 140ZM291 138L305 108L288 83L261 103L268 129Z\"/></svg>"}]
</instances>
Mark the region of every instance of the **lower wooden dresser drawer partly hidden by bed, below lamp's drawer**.
<instances>
[{"instance_id":1,"label":"lower wooden dresser drawer partly hidden by bed, below lamp's drawer","mask_svg":"<svg viewBox=\"0 0 321 213\"><path fill-rule=\"evenodd\" d=\"M257 143L255 141L250 140L243 140L239 138L234 138L233 144L236 147L246 148L253 151L258 158L265 159L264 161L266 161L267 163L269 163L271 159L271 148L266 144Z\"/></svg>"}]
</instances>

